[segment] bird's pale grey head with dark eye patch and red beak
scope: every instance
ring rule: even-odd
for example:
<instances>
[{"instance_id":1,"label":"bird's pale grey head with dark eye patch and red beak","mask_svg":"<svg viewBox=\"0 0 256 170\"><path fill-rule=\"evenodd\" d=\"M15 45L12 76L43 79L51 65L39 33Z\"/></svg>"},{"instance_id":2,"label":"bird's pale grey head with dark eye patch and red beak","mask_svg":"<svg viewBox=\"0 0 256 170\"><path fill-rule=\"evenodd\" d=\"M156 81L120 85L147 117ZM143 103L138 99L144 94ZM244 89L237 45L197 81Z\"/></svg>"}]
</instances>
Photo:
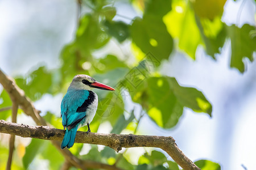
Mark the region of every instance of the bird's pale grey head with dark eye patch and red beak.
<instances>
[{"instance_id":1,"label":"bird's pale grey head with dark eye patch and red beak","mask_svg":"<svg viewBox=\"0 0 256 170\"><path fill-rule=\"evenodd\" d=\"M76 75L73 78L69 88L76 88L79 90L90 90L90 91L93 90L93 88L98 88L101 90L111 90L111 91L114 90L114 88L106 86L105 84L99 83L96 80L94 80L94 78L85 74Z\"/></svg>"}]
</instances>

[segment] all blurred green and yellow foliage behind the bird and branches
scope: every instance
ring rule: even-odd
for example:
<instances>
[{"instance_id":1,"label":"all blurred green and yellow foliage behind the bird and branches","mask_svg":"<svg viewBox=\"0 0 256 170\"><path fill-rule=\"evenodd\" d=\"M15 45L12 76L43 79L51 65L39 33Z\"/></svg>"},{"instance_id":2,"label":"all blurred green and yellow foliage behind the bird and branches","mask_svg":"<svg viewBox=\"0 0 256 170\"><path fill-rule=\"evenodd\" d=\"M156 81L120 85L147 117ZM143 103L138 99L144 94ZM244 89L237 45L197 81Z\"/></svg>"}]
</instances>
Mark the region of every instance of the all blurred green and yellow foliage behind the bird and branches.
<instances>
[{"instance_id":1,"label":"all blurred green and yellow foliage behind the bird and branches","mask_svg":"<svg viewBox=\"0 0 256 170\"><path fill-rule=\"evenodd\" d=\"M123 114L126 112L127 115L125 106L129 97L141 105L147 116L160 128L173 128L183 114L184 107L212 116L212 105L202 92L180 86L175 78L158 73L162 61L172 57L174 49L184 51L196 59L198 46L203 46L205 52L216 59L225 41L230 40L230 67L243 73L245 58L251 62L254 59L255 27L245 24L239 28L223 23L221 16L225 0L127 1L126 5L142 13L141 17L131 18L130 23L115 19L118 15L116 2L83 0L82 8L86 8L86 12L80 18L74 40L61 50L59 69L47 70L46 66L40 66L26 76L15 78L18 86L32 101L39 100L44 94L64 94L73 76L89 74L116 89L115 92L96 90L99 102L97 114L90 126L92 131L97 131L102 122L110 122L112 133L136 131L134 126L139 125L139 120L135 118L134 112L128 113L128 116ZM129 42L134 56L121 58L105 52L100 58L95 57L94 52L104 48L110 41L114 41L117 46ZM10 106L10 97L3 90L0 108ZM0 119L7 120L10 115L10 110L1 112ZM48 112L44 118L55 128L62 128L61 118L56 114ZM83 127L80 130L87 129ZM83 155L84 147L76 144L70 150L81 159L116 164L124 169L179 169L175 162L167 160L159 151L145 152L138 159L138 164L133 164L123 154L117 154L109 147L100 151L92 145L88 154ZM7 147L1 145L0 151L2 169L7 159ZM60 169L64 162L63 155L49 141L32 139L25 154L23 152L15 152L22 155L23 159L22 163L14 159L13 168L33 169L30 164L35 158L46 160L49 169ZM220 169L220 165L209 160L199 160L196 164L201 169Z\"/></svg>"}]
</instances>

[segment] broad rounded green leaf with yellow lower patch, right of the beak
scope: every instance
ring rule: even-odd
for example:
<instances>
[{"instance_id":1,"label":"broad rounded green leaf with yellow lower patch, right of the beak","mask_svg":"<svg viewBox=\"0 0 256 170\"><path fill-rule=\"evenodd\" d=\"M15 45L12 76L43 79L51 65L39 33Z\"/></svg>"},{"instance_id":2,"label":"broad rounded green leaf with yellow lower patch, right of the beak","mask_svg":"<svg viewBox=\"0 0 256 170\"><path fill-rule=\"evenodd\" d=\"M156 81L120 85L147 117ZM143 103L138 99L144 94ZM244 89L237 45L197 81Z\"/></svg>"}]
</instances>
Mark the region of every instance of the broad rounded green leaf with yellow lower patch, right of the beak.
<instances>
[{"instance_id":1,"label":"broad rounded green leaf with yellow lower patch, right of the beak","mask_svg":"<svg viewBox=\"0 0 256 170\"><path fill-rule=\"evenodd\" d=\"M183 113L183 105L177 100L166 78L147 79L147 114L162 128L172 128Z\"/></svg>"}]
</instances>

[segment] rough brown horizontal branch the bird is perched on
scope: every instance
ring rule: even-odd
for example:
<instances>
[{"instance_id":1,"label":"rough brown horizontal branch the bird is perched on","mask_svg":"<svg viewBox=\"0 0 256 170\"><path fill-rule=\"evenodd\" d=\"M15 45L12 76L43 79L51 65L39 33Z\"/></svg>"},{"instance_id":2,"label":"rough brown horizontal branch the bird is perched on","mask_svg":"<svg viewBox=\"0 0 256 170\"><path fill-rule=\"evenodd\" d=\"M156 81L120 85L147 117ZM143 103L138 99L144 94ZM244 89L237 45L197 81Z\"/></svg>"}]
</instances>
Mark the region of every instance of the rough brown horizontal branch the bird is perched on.
<instances>
[{"instance_id":1,"label":"rough brown horizontal branch the bird is perched on","mask_svg":"<svg viewBox=\"0 0 256 170\"><path fill-rule=\"evenodd\" d=\"M62 141L65 130L49 128L48 126L20 125L0 120L0 132L19 135L24 138ZM90 143L104 145L120 151L122 147L159 147L166 151L183 169L199 169L177 147L174 138L150 135L118 135L77 131L75 143Z\"/></svg>"}]
</instances>

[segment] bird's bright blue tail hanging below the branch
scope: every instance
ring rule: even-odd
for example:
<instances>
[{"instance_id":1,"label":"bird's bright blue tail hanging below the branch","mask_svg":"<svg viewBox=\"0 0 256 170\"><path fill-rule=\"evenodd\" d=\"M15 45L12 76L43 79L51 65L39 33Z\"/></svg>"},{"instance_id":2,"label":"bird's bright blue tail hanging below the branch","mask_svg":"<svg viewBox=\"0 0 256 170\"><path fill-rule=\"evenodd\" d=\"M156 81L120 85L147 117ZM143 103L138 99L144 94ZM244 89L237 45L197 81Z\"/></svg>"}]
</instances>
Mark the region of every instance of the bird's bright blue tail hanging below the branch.
<instances>
[{"instance_id":1,"label":"bird's bright blue tail hanging below the branch","mask_svg":"<svg viewBox=\"0 0 256 170\"><path fill-rule=\"evenodd\" d=\"M61 148L64 149L65 147L71 148L74 145L75 138L76 138L76 131L78 125L76 125L71 130L66 130L63 141L61 143Z\"/></svg>"}]
</instances>

